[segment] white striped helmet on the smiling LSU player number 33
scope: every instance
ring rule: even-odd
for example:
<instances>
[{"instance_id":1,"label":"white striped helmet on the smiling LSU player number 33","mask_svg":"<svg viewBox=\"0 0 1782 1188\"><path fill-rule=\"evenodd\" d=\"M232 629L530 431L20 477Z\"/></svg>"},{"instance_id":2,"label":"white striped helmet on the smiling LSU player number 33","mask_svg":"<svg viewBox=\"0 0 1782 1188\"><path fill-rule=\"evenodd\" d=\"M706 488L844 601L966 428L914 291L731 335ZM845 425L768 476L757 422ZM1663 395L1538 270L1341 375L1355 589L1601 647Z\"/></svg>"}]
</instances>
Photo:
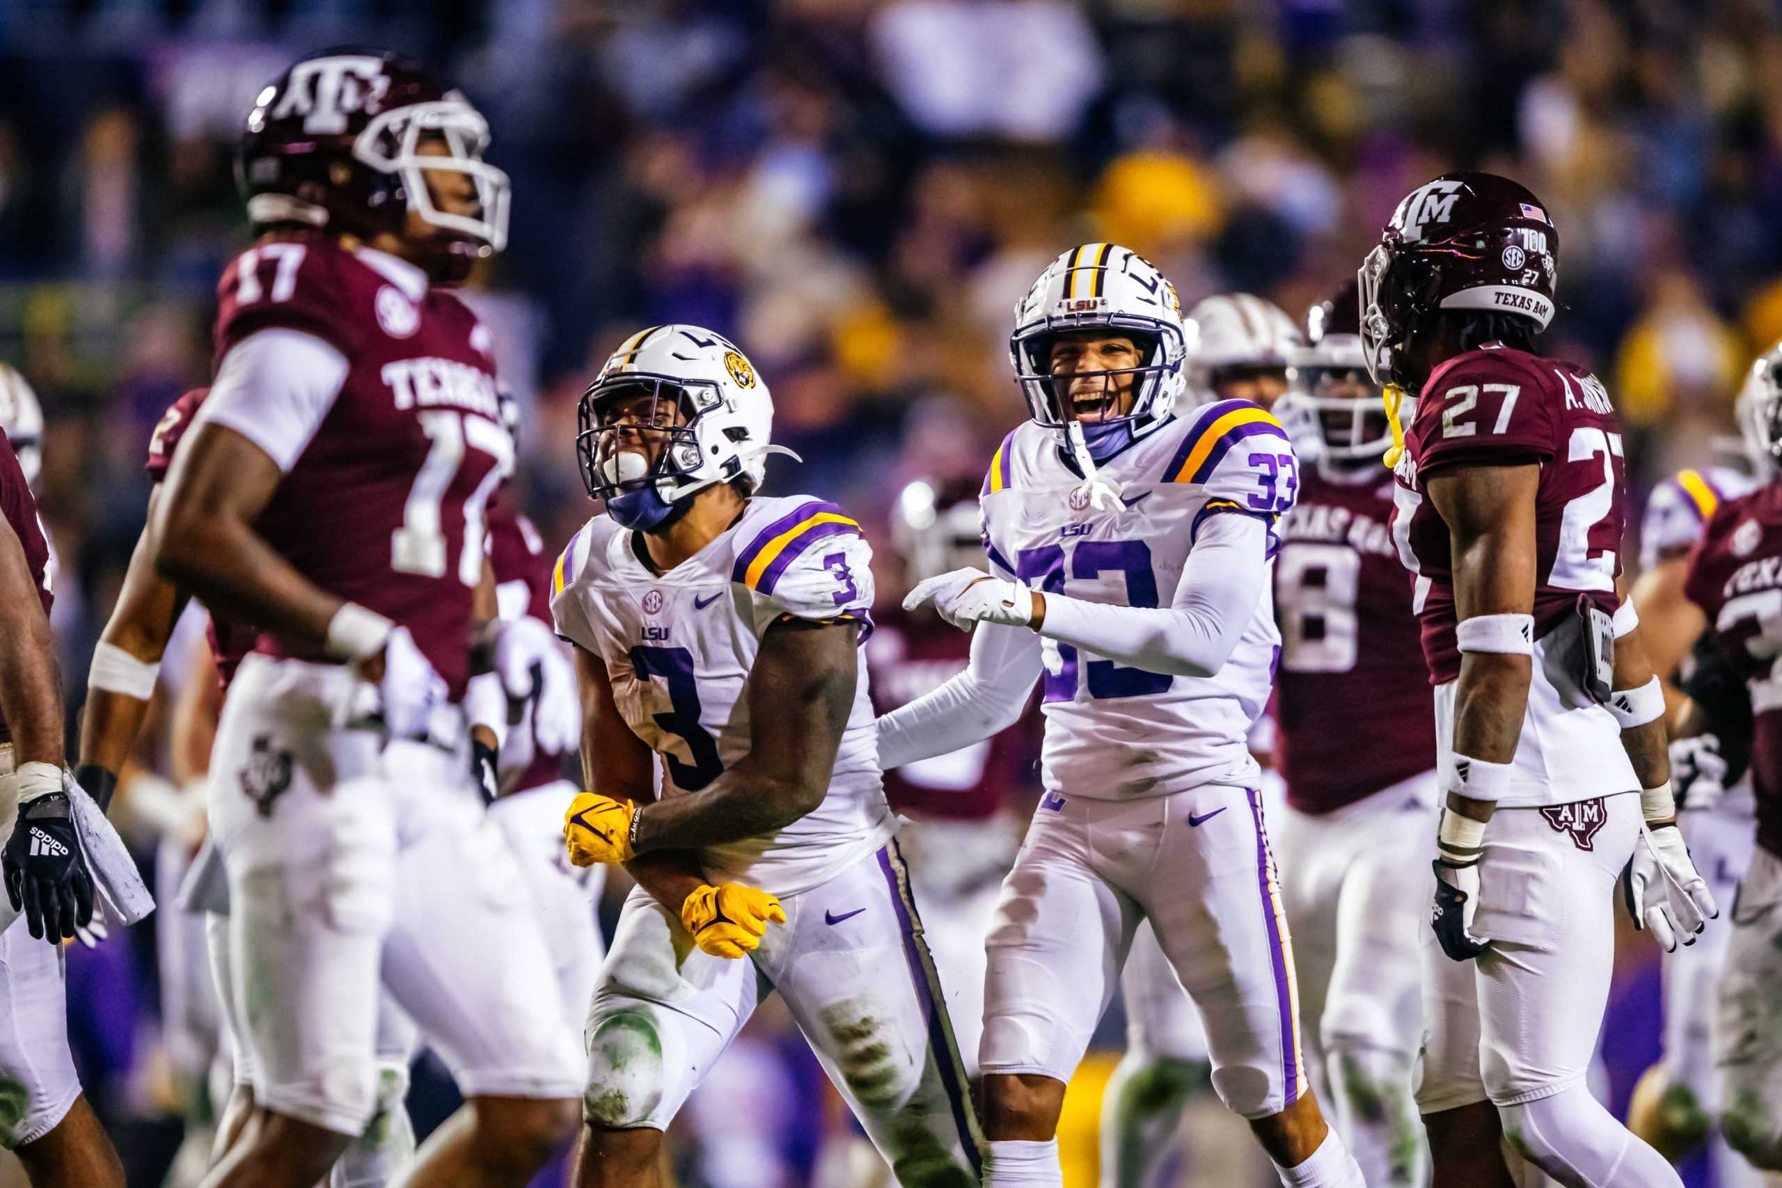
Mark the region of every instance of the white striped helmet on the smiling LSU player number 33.
<instances>
[{"instance_id":1,"label":"white striped helmet on the smiling LSU player number 33","mask_svg":"<svg viewBox=\"0 0 1782 1188\"><path fill-rule=\"evenodd\" d=\"M1169 420L1185 387L1181 301L1176 287L1149 260L1119 244L1082 244L1053 260L1014 308L1009 358L1026 397L1028 415L1053 431L1059 443L1076 449L1083 426L1067 406L1069 383L1051 374L1051 340L1073 330L1110 330L1132 335L1140 358L1132 411L1094 422L1092 445L1108 458L1133 438ZM1076 372L1071 379L1082 379ZM1092 374L1092 372L1091 372ZM1112 383L1124 372L1101 372ZM1107 445L1108 449L1103 449Z\"/></svg>"}]
</instances>

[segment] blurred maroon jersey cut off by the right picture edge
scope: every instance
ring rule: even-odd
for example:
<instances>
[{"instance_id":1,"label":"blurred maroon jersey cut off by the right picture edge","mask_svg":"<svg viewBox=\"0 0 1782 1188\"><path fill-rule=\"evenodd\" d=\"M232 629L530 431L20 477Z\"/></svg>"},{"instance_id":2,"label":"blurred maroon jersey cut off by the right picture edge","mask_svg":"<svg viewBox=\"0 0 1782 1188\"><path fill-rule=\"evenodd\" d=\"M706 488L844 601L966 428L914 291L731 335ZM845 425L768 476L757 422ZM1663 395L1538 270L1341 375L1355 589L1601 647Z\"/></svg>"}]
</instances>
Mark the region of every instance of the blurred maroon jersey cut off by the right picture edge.
<instances>
[{"instance_id":1,"label":"blurred maroon jersey cut off by the right picture edge","mask_svg":"<svg viewBox=\"0 0 1782 1188\"><path fill-rule=\"evenodd\" d=\"M1782 857L1782 484L1720 504L1682 591L1750 689L1757 844Z\"/></svg>"}]
</instances>

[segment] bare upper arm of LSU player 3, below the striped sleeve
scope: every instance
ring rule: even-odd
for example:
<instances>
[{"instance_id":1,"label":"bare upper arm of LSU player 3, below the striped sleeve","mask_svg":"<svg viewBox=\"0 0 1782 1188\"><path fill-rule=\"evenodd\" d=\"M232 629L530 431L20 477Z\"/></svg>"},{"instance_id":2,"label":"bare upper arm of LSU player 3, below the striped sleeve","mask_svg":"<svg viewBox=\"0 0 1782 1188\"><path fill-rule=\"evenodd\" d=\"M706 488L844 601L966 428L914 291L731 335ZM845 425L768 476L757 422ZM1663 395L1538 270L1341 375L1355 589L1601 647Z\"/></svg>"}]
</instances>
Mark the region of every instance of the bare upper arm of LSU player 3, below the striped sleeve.
<instances>
[{"instance_id":1,"label":"bare upper arm of LSU player 3, below the striped sleeve","mask_svg":"<svg viewBox=\"0 0 1782 1188\"><path fill-rule=\"evenodd\" d=\"M750 759L768 787L822 800L859 686L861 627L784 618L748 673Z\"/></svg>"}]
</instances>

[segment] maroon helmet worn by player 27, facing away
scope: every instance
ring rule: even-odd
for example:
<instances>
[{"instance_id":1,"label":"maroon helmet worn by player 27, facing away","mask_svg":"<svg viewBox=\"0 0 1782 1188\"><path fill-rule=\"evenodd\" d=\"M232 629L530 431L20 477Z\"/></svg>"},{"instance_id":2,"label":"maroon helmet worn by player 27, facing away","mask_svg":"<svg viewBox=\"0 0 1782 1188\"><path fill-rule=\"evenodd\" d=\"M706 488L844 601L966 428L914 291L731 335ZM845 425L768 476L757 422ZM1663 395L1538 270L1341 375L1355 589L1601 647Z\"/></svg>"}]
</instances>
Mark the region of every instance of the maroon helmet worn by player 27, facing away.
<instances>
[{"instance_id":1,"label":"maroon helmet worn by player 27, facing away","mask_svg":"<svg viewBox=\"0 0 1782 1188\"><path fill-rule=\"evenodd\" d=\"M1495 173L1445 173L1406 194L1358 273L1361 347L1377 383L1415 388L1406 338L1438 310L1509 313L1547 330L1559 233L1534 194Z\"/></svg>"}]
</instances>

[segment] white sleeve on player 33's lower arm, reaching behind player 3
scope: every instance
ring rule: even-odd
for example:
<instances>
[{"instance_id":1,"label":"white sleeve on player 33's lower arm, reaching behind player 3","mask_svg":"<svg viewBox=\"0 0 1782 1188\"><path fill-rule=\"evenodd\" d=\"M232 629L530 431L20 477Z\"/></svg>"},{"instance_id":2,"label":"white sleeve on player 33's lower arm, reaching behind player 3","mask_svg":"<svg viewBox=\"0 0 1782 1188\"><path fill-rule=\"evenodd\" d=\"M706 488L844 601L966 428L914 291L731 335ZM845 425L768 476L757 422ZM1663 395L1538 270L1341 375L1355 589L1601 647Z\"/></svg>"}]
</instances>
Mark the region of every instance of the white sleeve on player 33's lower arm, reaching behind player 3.
<instances>
[{"instance_id":1,"label":"white sleeve on player 33's lower arm, reaching behind player 3","mask_svg":"<svg viewBox=\"0 0 1782 1188\"><path fill-rule=\"evenodd\" d=\"M966 671L879 720L879 766L948 755L1012 727L1039 680L1039 648L1026 627L978 623Z\"/></svg>"}]
</instances>

